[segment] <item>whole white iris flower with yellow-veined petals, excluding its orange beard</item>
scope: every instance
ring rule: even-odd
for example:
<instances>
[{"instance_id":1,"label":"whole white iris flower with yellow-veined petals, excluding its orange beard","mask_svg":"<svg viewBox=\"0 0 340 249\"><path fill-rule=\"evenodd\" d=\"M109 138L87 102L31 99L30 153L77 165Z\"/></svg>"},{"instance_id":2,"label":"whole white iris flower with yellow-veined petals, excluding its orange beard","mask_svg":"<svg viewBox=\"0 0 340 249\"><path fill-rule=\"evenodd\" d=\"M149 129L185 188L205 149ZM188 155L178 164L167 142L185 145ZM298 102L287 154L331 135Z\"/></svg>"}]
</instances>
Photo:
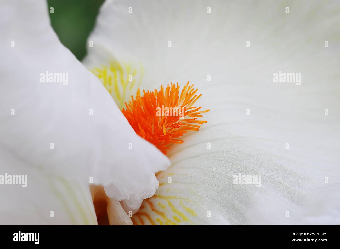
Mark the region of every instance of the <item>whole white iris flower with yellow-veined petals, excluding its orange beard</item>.
<instances>
[{"instance_id":1,"label":"whole white iris flower with yellow-veined petals, excluding its orange beard","mask_svg":"<svg viewBox=\"0 0 340 249\"><path fill-rule=\"evenodd\" d=\"M82 65L45 2L2 2L0 175L27 187L0 185L0 224L96 225L95 206L111 225L339 224L339 8L107 0ZM169 167L120 109L188 81L208 123Z\"/></svg>"}]
</instances>

